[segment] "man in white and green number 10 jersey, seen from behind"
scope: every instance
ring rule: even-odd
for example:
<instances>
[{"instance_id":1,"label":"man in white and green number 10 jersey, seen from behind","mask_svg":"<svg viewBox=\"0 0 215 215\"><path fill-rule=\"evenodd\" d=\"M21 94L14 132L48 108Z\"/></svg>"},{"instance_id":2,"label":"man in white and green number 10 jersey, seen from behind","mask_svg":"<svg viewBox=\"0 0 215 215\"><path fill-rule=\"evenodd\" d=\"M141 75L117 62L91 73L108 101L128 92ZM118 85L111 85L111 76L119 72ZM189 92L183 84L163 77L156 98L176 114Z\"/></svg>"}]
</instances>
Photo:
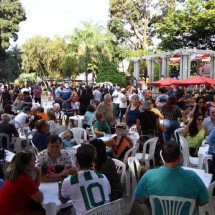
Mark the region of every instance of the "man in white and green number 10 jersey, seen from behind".
<instances>
[{"instance_id":1,"label":"man in white and green number 10 jersey, seen from behind","mask_svg":"<svg viewBox=\"0 0 215 215\"><path fill-rule=\"evenodd\" d=\"M66 178L59 192L61 202L72 200L77 215L84 215L87 210L110 200L111 188L106 176L91 170L94 153L93 146L89 144L77 149L78 174Z\"/></svg>"}]
</instances>

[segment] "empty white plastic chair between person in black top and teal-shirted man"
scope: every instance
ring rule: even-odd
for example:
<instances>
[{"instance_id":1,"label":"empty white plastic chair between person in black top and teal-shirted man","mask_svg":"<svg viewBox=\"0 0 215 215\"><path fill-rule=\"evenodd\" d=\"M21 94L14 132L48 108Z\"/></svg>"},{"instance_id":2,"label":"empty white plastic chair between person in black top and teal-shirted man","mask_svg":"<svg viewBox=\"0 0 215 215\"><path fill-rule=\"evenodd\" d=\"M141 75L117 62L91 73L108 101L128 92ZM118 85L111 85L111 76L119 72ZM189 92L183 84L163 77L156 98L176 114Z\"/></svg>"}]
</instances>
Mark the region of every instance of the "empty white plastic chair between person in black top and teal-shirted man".
<instances>
[{"instance_id":1,"label":"empty white plastic chair between person in black top and teal-shirted man","mask_svg":"<svg viewBox=\"0 0 215 215\"><path fill-rule=\"evenodd\" d=\"M153 161L153 165L155 167L155 147L158 141L158 137L153 137L149 140L147 140L143 145L143 152L142 153L136 153L135 158L139 160L142 163L145 163L146 168L150 168L150 160ZM147 146L149 145L149 153L146 153Z\"/></svg>"}]
</instances>

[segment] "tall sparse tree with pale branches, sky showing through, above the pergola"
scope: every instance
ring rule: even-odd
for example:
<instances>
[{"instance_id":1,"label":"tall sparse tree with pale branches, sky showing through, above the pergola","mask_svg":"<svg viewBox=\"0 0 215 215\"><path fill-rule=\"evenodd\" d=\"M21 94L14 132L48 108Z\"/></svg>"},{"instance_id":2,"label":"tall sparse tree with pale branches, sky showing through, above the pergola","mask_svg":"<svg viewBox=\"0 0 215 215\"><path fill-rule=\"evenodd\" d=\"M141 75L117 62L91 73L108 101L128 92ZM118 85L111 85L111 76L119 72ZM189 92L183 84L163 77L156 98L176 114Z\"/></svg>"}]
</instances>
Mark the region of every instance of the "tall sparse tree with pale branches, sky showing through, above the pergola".
<instances>
[{"instance_id":1,"label":"tall sparse tree with pale branches, sky showing through, above the pergola","mask_svg":"<svg viewBox=\"0 0 215 215\"><path fill-rule=\"evenodd\" d=\"M131 49L147 49L156 35L155 23L174 0L110 0L109 30L120 44Z\"/></svg>"}]
</instances>

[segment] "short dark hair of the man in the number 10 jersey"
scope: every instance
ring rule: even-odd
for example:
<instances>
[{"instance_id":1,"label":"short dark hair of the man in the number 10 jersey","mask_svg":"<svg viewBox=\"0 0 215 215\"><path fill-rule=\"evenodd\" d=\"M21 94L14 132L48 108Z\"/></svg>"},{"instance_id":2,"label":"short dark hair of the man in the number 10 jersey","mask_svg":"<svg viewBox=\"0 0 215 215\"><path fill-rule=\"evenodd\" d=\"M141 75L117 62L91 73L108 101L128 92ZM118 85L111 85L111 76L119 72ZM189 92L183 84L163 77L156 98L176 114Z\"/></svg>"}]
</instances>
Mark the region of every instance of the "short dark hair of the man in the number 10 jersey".
<instances>
[{"instance_id":1,"label":"short dark hair of the man in the number 10 jersey","mask_svg":"<svg viewBox=\"0 0 215 215\"><path fill-rule=\"evenodd\" d=\"M94 148L84 144L77 149L76 159L81 168L90 168L94 160Z\"/></svg>"}]
</instances>

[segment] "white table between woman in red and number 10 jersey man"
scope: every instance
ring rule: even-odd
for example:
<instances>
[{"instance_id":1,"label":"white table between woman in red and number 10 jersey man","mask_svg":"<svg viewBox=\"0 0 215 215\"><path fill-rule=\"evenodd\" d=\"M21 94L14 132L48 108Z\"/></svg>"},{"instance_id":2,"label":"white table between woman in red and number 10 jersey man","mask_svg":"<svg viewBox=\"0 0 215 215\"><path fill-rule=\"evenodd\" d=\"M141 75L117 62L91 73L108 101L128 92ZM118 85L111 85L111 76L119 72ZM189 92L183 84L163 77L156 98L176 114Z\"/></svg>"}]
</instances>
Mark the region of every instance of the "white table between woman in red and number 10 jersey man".
<instances>
[{"instance_id":1,"label":"white table between woman in red and number 10 jersey man","mask_svg":"<svg viewBox=\"0 0 215 215\"><path fill-rule=\"evenodd\" d=\"M62 204L58 199L58 182L42 182L39 189L44 196L42 206L47 215L56 215L60 209L72 205L72 201Z\"/></svg>"}]
</instances>

